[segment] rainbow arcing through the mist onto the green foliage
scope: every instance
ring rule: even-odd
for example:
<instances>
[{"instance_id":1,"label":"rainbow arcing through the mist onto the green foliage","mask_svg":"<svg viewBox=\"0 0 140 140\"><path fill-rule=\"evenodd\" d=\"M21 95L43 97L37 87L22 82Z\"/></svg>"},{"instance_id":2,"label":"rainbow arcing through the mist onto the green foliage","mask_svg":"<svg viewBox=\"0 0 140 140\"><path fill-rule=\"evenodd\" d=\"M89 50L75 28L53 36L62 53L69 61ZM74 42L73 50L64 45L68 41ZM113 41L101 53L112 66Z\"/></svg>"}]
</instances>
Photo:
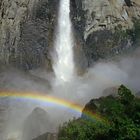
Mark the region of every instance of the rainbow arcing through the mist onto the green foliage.
<instances>
[{"instance_id":1,"label":"rainbow arcing through the mist onto the green foliage","mask_svg":"<svg viewBox=\"0 0 140 140\"><path fill-rule=\"evenodd\" d=\"M54 104L59 105L62 107L66 107L69 109L72 109L78 113L83 113L85 116L95 120L95 121L101 121L103 123L109 124L108 121L101 117L99 114L95 114L90 110L83 111L83 107L72 103L67 100L63 100L60 98L56 98L50 95L46 95L43 93L36 93L36 92L16 92L16 91L0 91L0 99L4 97L10 97L12 99L23 99L23 100L31 100L36 102L41 102L43 104Z\"/></svg>"}]
</instances>

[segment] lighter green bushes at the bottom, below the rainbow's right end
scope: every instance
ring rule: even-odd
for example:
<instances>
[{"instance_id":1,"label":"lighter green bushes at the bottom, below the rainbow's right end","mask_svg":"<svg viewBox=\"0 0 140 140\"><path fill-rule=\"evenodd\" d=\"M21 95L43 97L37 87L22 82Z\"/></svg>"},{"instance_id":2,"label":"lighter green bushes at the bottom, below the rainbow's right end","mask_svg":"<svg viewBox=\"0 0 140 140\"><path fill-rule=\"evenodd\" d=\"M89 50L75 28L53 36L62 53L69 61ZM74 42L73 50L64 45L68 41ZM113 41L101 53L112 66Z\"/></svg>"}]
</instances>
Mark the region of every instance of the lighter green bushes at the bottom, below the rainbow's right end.
<instances>
[{"instance_id":1,"label":"lighter green bushes at the bottom, below the rainbow's right end","mask_svg":"<svg viewBox=\"0 0 140 140\"><path fill-rule=\"evenodd\" d=\"M59 140L93 140L107 138L109 127L102 123L78 119L65 123L60 128Z\"/></svg>"}]
</instances>

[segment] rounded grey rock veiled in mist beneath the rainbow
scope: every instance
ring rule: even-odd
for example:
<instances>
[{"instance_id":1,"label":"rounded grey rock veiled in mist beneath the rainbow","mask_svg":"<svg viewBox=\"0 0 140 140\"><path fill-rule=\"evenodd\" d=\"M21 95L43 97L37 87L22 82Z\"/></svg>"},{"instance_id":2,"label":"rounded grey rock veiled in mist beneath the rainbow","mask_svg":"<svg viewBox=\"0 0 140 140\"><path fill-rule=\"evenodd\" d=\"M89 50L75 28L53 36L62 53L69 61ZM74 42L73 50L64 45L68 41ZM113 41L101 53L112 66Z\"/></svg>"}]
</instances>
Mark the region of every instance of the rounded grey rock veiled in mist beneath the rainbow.
<instances>
[{"instance_id":1,"label":"rounded grey rock veiled in mist beneath the rainbow","mask_svg":"<svg viewBox=\"0 0 140 140\"><path fill-rule=\"evenodd\" d=\"M22 140L32 140L51 131L49 116L41 108L35 108L24 122Z\"/></svg>"}]
</instances>

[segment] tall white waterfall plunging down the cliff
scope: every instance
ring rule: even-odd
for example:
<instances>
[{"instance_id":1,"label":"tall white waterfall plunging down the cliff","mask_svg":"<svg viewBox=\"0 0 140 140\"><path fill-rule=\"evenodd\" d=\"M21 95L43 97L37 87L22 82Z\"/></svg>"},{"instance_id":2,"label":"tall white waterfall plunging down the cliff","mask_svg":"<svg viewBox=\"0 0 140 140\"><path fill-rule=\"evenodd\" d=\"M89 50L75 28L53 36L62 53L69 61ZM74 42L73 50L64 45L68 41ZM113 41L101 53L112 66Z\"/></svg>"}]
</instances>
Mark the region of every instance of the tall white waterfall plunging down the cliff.
<instances>
[{"instance_id":1,"label":"tall white waterfall plunging down the cliff","mask_svg":"<svg viewBox=\"0 0 140 140\"><path fill-rule=\"evenodd\" d=\"M54 60L53 69L56 78L61 81L70 81L74 74L73 36L71 26L70 0L60 0L54 46L57 57Z\"/></svg>"}]
</instances>

